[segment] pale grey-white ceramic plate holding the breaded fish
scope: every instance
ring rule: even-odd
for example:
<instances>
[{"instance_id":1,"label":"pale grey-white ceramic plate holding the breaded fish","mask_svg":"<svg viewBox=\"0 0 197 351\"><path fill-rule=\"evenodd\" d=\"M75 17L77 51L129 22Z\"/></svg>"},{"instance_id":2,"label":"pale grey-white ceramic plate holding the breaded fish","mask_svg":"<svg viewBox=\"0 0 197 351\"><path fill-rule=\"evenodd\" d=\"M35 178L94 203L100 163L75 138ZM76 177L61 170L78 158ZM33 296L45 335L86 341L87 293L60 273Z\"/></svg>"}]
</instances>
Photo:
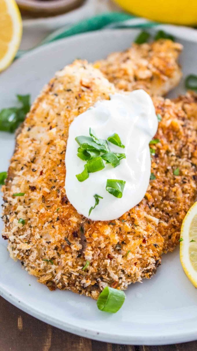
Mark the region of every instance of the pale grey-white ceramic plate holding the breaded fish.
<instances>
[{"instance_id":1,"label":"pale grey-white ceramic plate holding the breaded fish","mask_svg":"<svg viewBox=\"0 0 197 351\"><path fill-rule=\"evenodd\" d=\"M54 72L75 58L90 62L127 48L137 30L118 29L77 35L40 47L0 75L0 108L15 104L15 94L30 93L32 100ZM182 41L184 76L197 72L197 46ZM183 82L172 93L184 93ZM14 136L0 133L0 171L5 171ZM9 258L0 239L0 294L23 311L63 330L92 339L120 344L174 344L197 339L197 291L186 278L178 247L164 255L157 274L143 284L130 285L120 311L108 314L96 302L69 291L50 292Z\"/></svg>"}]
</instances>

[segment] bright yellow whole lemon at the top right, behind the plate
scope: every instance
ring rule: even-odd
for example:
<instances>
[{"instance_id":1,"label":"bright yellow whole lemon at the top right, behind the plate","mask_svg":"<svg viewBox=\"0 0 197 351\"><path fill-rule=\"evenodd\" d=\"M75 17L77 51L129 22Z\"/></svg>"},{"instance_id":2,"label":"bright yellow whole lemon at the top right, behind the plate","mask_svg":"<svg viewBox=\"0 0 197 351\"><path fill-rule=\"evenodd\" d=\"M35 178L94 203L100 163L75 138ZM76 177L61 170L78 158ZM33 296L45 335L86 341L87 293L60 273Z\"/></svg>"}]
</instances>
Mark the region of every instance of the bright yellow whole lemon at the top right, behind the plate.
<instances>
[{"instance_id":1,"label":"bright yellow whole lemon at the top right, behind the plate","mask_svg":"<svg viewBox=\"0 0 197 351\"><path fill-rule=\"evenodd\" d=\"M197 25L197 0L114 0L119 6L137 16L157 22Z\"/></svg>"}]
</instances>

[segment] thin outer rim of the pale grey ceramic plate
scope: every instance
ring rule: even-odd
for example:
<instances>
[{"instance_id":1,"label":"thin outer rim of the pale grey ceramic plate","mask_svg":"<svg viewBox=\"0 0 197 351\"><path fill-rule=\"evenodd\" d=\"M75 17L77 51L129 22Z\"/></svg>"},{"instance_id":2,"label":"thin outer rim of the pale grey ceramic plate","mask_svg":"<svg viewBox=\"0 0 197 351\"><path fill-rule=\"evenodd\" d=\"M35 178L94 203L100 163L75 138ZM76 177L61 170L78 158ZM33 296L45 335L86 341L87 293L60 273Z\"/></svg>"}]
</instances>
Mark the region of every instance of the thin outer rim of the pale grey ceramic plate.
<instances>
[{"instance_id":1,"label":"thin outer rim of the pale grey ceramic plate","mask_svg":"<svg viewBox=\"0 0 197 351\"><path fill-rule=\"evenodd\" d=\"M113 29L113 34L116 33L124 33L125 31L127 32L133 32L137 31L137 29L133 28L120 28L120 29ZM37 52L40 51L45 51L46 48L54 48L60 44L60 42L69 42L69 41L77 41L78 38L81 37L90 37L90 36L97 36L97 35L109 35L112 34L112 29L104 29L103 31L92 31L92 32L87 32L87 33L81 33L74 35L72 37L68 38L63 38L54 42L51 42L49 44L42 45L40 47L37 47L35 49L32 49L30 52L25 54L23 57L19 58L15 62L13 62L12 67L18 64L19 62L23 62L23 60L28 60L29 56L36 55ZM9 70L9 68L8 68ZM5 75L6 72L2 72L2 75ZM59 329L62 329L67 332L74 333L76 335L86 337L86 338L91 338L94 340L99 340L103 342L110 342L110 343L117 343L117 344L132 344L132 345L169 345L169 344L175 344L175 343L181 343L181 342L190 342L193 340L197 339L197 327L196 329L181 332L181 331L176 331L174 330L173 333L169 333L169 331L166 331L165 334L160 336L141 336L141 337L135 337L135 336L130 336L130 335L114 335L109 332L97 332L95 329L88 329L85 327L80 327L76 326L73 323L69 323L67 321L60 321L59 319L52 319L50 316L47 315L47 313L42 313L39 310L36 310L35 307L32 307L28 305L27 303L23 303L22 301L19 301L17 296L13 296L9 291L7 291L3 285L1 285L0 282L0 295L5 298L8 302L13 304L14 306L18 307L22 311L30 314L31 316L38 318L42 320L45 323L48 323L50 325L53 325L55 327L58 327ZM95 328L95 327L94 327Z\"/></svg>"}]
</instances>

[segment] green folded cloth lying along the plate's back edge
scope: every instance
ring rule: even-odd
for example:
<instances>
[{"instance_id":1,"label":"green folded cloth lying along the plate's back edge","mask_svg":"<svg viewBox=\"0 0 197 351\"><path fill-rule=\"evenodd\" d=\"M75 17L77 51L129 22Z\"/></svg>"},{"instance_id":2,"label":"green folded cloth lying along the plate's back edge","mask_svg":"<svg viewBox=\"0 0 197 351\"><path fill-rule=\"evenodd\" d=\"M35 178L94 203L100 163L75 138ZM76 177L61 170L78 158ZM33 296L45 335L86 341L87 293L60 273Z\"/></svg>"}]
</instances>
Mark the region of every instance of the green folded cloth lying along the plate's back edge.
<instances>
[{"instance_id":1,"label":"green folded cloth lying along the plate's back edge","mask_svg":"<svg viewBox=\"0 0 197 351\"><path fill-rule=\"evenodd\" d=\"M57 29L55 32L49 34L44 40L42 40L38 46L70 37L71 35L97 31L103 28L151 28L156 25L158 24L155 22L137 18L126 13L108 12L82 20L75 25L66 25L60 29ZM29 52L29 50L19 50L16 54L16 58L19 58L26 52Z\"/></svg>"}]
</instances>

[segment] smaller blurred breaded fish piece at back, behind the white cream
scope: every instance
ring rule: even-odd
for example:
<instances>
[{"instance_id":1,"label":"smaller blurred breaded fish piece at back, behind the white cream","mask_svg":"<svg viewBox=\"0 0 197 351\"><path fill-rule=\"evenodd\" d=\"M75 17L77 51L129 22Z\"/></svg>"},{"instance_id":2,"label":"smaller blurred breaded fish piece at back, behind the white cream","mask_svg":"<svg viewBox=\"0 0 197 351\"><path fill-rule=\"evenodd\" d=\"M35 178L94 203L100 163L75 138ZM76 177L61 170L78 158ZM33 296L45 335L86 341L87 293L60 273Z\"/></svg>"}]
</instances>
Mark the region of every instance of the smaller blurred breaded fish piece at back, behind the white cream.
<instances>
[{"instance_id":1,"label":"smaller blurred breaded fish piece at back, behind the white cream","mask_svg":"<svg viewBox=\"0 0 197 351\"><path fill-rule=\"evenodd\" d=\"M95 62L94 67L118 89L144 89L151 95L162 96L178 85L182 77L177 63L181 51L182 45L169 39L132 44L123 52Z\"/></svg>"}]
</instances>

